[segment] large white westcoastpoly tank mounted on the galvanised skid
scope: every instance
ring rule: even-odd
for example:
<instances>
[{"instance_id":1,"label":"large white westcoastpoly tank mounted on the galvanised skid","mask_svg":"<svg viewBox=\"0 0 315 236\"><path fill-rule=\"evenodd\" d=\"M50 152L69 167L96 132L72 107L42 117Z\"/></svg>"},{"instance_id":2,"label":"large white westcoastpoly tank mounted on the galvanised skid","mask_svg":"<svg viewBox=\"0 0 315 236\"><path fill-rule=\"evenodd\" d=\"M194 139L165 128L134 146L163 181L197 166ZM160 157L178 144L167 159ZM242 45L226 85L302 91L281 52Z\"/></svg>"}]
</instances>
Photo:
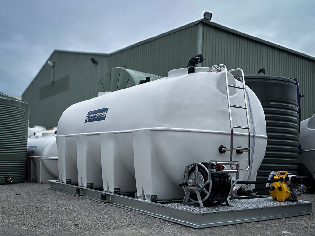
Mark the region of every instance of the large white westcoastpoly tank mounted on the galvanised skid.
<instances>
[{"instance_id":1,"label":"large white westcoastpoly tank mounted on the galvanised skid","mask_svg":"<svg viewBox=\"0 0 315 236\"><path fill-rule=\"evenodd\" d=\"M169 72L168 77L100 94L70 106L58 123L59 177L63 183L137 192L146 199L182 199L185 166L209 160L230 160L231 130L225 72L197 67ZM242 83L229 72L229 84ZM251 181L266 150L266 121L256 95L248 88L256 126ZM243 91L230 87L231 104L243 106ZM233 110L233 125L247 126L246 113ZM233 146L247 147L248 134L236 129ZM253 136L252 136L253 138ZM241 169L247 153L237 155ZM246 181L248 171L240 173ZM234 177L235 178L235 177ZM89 184L89 185L88 185Z\"/></svg>"}]
</instances>

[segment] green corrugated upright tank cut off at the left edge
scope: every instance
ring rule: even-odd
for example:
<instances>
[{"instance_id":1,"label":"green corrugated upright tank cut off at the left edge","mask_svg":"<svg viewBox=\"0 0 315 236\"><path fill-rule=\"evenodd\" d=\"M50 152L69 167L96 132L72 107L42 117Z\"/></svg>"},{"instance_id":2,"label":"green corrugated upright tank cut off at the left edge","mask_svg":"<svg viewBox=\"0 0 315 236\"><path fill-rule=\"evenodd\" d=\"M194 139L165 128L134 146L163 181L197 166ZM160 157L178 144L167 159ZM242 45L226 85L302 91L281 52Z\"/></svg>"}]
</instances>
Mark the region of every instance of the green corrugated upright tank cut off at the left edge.
<instances>
[{"instance_id":1,"label":"green corrugated upright tank cut off at the left edge","mask_svg":"<svg viewBox=\"0 0 315 236\"><path fill-rule=\"evenodd\" d=\"M28 119L28 103L0 93L0 184L24 182Z\"/></svg>"}]
</instances>

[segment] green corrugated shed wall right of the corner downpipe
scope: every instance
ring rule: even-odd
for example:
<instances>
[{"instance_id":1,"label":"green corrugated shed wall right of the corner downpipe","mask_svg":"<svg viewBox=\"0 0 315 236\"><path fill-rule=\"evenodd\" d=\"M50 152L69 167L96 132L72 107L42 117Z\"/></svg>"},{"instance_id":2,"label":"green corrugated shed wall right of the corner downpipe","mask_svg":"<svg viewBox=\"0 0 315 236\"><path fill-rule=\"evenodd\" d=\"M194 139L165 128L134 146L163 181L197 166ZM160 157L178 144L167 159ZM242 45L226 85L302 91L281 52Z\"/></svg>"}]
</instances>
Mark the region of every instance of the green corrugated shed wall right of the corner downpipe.
<instances>
[{"instance_id":1,"label":"green corrugated shed wall right of the corner downpipe","mask_svg":"<svg viewBox=\"0 0 315 236\"><path fill-rule=\"evenodd\" d=\"M225 64L228 69L242 68L245 74L257 74L262 67L266 75L299 80L301 119L315 110L315 61L270 45L203 24L203 66Z\"/></svg>"}]
</instances>

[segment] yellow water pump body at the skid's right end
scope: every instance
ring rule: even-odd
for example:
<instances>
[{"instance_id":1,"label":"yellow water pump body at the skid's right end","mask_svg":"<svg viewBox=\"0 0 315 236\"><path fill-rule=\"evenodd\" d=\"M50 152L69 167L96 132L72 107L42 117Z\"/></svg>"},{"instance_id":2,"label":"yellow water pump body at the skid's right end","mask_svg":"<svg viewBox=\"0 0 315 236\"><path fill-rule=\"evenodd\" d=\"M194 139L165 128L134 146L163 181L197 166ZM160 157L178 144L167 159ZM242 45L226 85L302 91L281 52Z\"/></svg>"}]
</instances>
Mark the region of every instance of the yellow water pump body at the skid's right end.
<instances>
[{"instance_id":1,"label":"yellow water pump body at the skid's right end","mask_svg":"<svg viewBox=\"0 0 315 236\"><path fill-rule=\"evenodd\" d=\"M282 175L284 174L284 176ZM284 201L290 196L290 188L286 184L285 178L288 176L288 171L278 171L277 175L273 176L273 179L279 179L283 177L283 181L271 183L270 186L274 186L275 190L269 190L270 195L275 201Z\"/></svg>"}]
</instances>

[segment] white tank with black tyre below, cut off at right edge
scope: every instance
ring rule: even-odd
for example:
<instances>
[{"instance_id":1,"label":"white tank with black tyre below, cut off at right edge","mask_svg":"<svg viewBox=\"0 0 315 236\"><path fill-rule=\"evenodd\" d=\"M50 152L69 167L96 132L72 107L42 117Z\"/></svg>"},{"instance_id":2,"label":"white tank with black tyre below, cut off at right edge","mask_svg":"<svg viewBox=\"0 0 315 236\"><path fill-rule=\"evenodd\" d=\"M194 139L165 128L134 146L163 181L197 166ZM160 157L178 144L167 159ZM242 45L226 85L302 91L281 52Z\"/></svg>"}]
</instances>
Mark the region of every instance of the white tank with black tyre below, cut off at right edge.
<instances>
[{"instance_id":1,"label":"white tank with black tyre below, cut off at right edge","mask_svg":"<svg viewBox=\"0 0 315 236\"><path fill-rule=\"evenodd\" d=\"M303 152L299 155L299 168L302 174L310 177L309 192L315 192L315 115L301 121L300 143Z\"/></svg>"}]
</instances>

